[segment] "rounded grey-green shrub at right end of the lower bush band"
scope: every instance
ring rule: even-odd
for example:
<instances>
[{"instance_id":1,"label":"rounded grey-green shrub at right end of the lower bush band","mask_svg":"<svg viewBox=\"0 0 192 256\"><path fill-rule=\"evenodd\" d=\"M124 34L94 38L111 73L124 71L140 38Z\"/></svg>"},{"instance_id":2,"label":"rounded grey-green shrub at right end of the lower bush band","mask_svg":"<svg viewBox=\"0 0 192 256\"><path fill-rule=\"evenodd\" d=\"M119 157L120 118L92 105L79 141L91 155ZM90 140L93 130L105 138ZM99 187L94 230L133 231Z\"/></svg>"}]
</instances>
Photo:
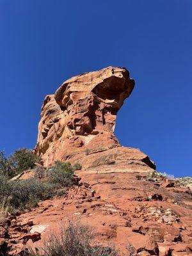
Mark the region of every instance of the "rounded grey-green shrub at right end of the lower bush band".
<instances>
[{"instance_id":1,"label":"rounded grey-green shrub at right end of the lower bush band","mask_svg":"<svg viewBox=\"0 0 192 256\"><path fill-rule=\"evenodd\" d=\"M54 166L47 170L48 182L58 184L61 187L68 187L74 184L74 169L70 163L56 161Z\"/></svg>"}]
</instances>

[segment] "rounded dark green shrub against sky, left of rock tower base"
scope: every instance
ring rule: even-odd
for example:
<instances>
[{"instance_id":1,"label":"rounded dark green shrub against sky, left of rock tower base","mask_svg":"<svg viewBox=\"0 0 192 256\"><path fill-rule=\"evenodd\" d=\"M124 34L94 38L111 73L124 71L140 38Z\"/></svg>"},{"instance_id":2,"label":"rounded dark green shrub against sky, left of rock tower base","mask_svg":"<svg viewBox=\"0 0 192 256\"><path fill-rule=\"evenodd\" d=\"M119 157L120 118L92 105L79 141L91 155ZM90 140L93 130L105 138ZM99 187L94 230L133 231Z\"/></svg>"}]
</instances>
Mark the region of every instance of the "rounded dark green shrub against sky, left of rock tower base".
<instances>
[{"instance_id":1,"label":"rounded dark green shrub against sky, left of rock tower base","mask_svg":"<svg viewBox=\"0 0 192 256\"><path fill-rule=\"evenodd\" d=\"M41 158L33 154L32 150L28 148L22 148L15 150L10 159L13 162L15 173L19 174L28 169L33 169L35 163L40 163Z\"/></svg>"}]
</instances>

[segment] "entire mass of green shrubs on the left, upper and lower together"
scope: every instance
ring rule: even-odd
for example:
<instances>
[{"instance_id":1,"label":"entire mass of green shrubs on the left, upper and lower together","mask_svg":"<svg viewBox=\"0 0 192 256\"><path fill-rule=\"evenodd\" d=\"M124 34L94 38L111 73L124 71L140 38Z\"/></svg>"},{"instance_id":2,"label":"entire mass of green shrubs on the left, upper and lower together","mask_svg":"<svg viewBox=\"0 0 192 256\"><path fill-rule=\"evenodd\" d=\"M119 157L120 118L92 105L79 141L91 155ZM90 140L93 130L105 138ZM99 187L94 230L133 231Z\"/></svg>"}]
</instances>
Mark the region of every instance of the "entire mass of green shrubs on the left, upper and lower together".
<instances>
[{"instance_id":1,"label":"entire mass of green shrubs on the left, upper and lower together","mask_svg":"<svg viewBox=\"0 0 192 256\"><path fill-rule=\"evenodd\" d=\"M4 209L13 212L34 207L40 200L56 195L58 189L72 186L74 184L74 170L81 169L80 164L72 166L70 163L56 161L47 170L35 170L33 179L10 180L25 170L33 169L35 163L40 162L40 157L27 148L16 150L8 157L3 151L0 151L1 215L4 215Z\"/></svg>"}]
</instances>

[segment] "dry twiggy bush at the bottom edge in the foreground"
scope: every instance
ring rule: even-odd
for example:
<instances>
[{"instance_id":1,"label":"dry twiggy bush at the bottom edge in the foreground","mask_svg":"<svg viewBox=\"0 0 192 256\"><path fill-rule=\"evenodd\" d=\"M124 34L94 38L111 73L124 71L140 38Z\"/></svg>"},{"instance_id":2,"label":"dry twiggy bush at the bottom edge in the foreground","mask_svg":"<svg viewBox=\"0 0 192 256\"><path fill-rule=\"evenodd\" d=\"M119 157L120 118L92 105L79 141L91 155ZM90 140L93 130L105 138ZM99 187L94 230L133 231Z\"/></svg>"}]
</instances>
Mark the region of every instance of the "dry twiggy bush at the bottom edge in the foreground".
<instances>
[{"instance_id":1,"label":"dry twiggy bush at the bottom edge in the foreground","mask_svg":"<svg viewBox=\"0 0 192 256\"><path fill-rule=\"evenodd\" d=\"M112 247L95 244L93 231L89 227L70 221L67 228L59 234L52 234L44 246L36 251L30 250L28 256L117 256Z\"/></svg>"}]
</instances>

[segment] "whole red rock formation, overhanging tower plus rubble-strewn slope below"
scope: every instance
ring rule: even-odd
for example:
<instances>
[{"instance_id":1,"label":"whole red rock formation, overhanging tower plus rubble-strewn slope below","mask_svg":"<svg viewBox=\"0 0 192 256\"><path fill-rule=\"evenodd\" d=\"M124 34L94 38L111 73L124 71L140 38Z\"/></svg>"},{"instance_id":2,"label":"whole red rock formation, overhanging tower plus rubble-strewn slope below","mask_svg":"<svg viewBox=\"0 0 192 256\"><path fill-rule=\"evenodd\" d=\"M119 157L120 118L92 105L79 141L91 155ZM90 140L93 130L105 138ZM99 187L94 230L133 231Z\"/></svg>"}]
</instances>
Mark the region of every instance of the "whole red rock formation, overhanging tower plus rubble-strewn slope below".
<instances>
[{"instance_id":1,"label":"whole red rock formation, overhanging tower plus rubble-strewn slope below","mask_svg":"<svg viewBox=\"0 0 192 256\"><path fill-rule=\"evenodd\" d=\"M38 247L69 218L91 225L99 243L113 243L125 255L131 255L127 246L143 256L192 252L191 190L159 175L148 179L154 163L122 147L113 133L133 87L125 68L108 67L72 77L45 97L35 152L44 166L58 159L82 164L76 172L81 180L65 195L6 220L0 243L6 241L12 255L26 244Z\"/></svg>"}]
</instances>

